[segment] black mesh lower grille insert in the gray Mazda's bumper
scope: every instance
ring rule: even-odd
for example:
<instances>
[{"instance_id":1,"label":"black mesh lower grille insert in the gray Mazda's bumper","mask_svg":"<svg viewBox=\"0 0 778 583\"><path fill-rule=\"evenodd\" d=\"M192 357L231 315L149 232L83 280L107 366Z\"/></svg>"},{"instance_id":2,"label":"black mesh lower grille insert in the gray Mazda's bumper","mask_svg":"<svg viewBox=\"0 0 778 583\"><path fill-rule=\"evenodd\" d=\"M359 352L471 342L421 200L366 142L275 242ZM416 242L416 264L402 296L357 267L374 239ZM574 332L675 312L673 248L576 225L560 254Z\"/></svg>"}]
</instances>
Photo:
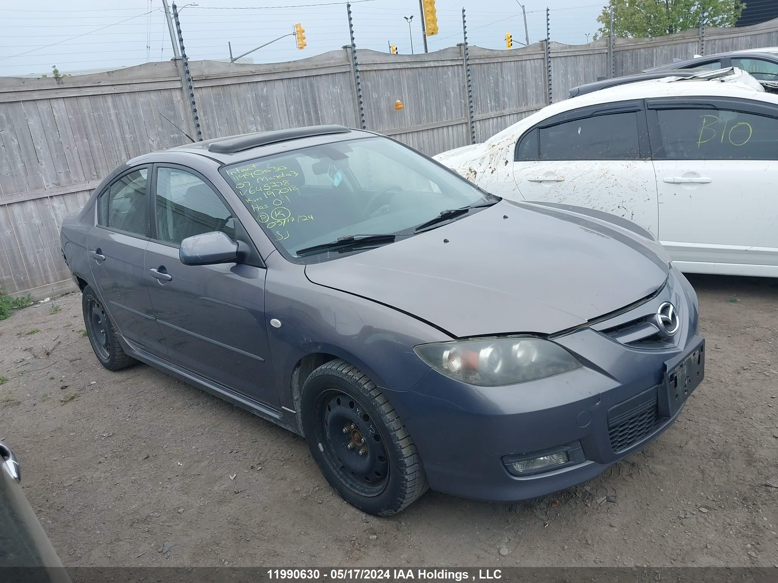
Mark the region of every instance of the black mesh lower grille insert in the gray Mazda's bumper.
<instances>
[{"instance_id":1,"label":"black mesh lower grille insert in the gray Mazda's bumper","mask_svg":"<svg viewBox=\"0 0 778 583\"><path fill-rule=\"evenodd\" d=\"M608 437L614 452L621 452L653 433L663 422L657 407L657 387L608 411Z\"/></svg>"}]
</instances>

